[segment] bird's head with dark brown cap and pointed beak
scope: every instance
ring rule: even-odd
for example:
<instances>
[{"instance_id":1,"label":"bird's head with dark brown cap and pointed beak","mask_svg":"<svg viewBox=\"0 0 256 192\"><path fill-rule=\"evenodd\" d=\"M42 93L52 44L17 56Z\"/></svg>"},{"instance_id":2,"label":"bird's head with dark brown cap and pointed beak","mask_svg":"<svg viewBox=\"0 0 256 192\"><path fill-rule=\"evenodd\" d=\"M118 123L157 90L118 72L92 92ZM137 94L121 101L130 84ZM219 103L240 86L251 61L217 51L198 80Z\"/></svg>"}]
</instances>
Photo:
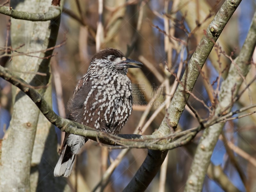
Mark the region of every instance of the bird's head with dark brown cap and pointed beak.
<instances>
[{"instance_id":1,"label":"bird's head with dark brown cap and pointed beak","mask_svg":"<svg viewBox=\"0 0 256 192\"><path fill-rule=\"evenodd\" d=\"M92 57L90 70L107 70L123 75L127 74L127 68L140 68L142 63L124 57L124 54L114 48L103 49Z\"/></svg>"}]
</instances>

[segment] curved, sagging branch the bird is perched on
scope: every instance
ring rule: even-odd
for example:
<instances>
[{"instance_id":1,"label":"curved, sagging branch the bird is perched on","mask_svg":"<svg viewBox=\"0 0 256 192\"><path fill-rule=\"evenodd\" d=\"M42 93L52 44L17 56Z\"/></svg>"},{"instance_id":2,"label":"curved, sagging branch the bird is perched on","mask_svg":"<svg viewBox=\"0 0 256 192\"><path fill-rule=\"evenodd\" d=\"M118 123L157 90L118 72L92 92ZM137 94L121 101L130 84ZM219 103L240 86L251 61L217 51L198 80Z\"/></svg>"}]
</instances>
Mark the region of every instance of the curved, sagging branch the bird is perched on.
<instances>
[{"instance_id":1,"label":"curved, sagging branch the bird is perched on","mask_svg":"<svg viewBox=\"0 0 256 192\"><path fill-rule=\"evenodd\" d=\"M36 104L39 110L44 114L49 122L68 133L73 133L76 135L86 136L87 138L100 141L108 145L122 145L127 148L148 148L152 150L167 150L172 148L177 148L187 144L198 131L200 127L186 130L184 132L177 132L169 134L166 137L162 137L157 134L153 135L137 135L137 134L128 134L128 135L111 135L108 133L100 132L94 128L88 127L77 122L70 121L68 119L61 118L58 116L52 108L49 107L47 102L43 97L31 86L29 86L24 80L12 74L12 72L4 67L0 66L0 77L4 78L11 84L18 87L21 91L26 93L28 97ZM166 144L155 144L158 141L166 140L174 137L180 137L179 139L173 141L172 143Z\"/></svg>"}]
</instances>

